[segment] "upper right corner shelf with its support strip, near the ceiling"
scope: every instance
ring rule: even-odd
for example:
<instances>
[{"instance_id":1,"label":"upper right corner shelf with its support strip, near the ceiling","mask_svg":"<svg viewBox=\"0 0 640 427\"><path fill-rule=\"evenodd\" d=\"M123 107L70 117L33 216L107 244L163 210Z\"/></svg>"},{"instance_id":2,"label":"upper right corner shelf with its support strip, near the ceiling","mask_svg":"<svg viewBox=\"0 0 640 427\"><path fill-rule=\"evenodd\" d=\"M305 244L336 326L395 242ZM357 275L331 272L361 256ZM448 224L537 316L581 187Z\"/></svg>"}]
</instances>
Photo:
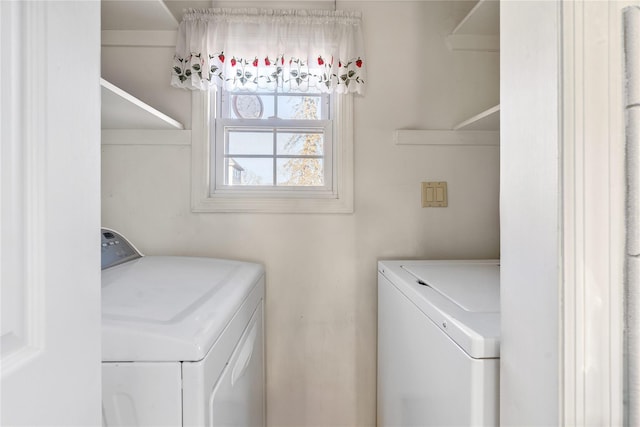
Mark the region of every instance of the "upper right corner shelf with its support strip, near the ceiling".
<instances>
[{"instance_id":1,"label":"upper right corner shelf with its support strip, near the ceiling","mask_svg":"<svg viewBox=\"0 0 640 427\"><path fill-rule=\"evenodd\" d=\"M500 2L479 0L447 37L451 50L498 52L500 50Z\"/></svg>"}]
</instances>

